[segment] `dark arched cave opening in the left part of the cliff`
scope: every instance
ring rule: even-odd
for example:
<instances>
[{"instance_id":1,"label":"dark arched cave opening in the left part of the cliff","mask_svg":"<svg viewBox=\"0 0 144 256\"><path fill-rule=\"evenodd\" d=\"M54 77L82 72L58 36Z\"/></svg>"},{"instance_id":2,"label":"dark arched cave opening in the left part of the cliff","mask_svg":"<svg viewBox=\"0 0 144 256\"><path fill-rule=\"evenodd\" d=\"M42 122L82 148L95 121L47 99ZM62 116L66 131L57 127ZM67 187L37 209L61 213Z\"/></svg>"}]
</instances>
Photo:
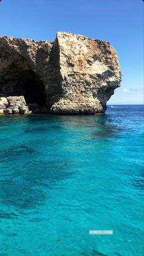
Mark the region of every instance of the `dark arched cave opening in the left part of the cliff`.
<instances>
[{"instance_id":1,"label":"dark arched cave opening in the left part of the cliff","mask_svg":"<svg viewBox=\"0 0 144 256\"><path fill-rule=\"evenodd\" d=\"M24 96L26 103L45 106L45 85L18 54L4 53L4 66L0 70L0 96Z\"/></svg>"}]
</instances>

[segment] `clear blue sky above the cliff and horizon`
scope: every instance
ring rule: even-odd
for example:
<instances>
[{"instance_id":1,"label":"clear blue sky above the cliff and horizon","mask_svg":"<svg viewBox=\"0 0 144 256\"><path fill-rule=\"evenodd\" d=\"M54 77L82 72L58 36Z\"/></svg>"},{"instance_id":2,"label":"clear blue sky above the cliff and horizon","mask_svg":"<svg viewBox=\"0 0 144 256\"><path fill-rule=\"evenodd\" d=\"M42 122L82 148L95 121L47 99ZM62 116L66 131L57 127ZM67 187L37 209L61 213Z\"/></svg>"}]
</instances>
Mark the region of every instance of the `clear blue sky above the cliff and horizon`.
<instances>
[{"instance_id":1,"label":"clear blue sky above the cliff and horizon","mask_svg":"<svg viewBox=\"0 0 144 256\"><path fill-rule=\"evenodd\" d=\"M0 2L1 35L53 41L57 31L109 41L123 77L108 104L143 104L142 0Z\"/></svg>"}]
</instances>

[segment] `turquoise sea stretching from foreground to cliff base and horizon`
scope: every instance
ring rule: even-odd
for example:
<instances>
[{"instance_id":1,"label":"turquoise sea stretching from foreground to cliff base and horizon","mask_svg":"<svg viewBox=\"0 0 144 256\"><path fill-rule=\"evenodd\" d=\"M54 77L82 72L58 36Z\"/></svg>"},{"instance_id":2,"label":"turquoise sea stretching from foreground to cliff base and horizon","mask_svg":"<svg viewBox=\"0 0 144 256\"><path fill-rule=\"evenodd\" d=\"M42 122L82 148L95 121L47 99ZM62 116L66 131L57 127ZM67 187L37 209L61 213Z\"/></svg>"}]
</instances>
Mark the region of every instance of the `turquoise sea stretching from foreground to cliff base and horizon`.
<instances>
[{"instance_id":1,"label":"turquoise sea stretching from foreground to cliff base and horizon","mask_svg":"<svg viewBox=\"0 0 144 256\"><path fill-rule=\"evenodd\" d=\"M0 255L143 256L142 119L1 116Z\"/></svg>"}]
</instances>

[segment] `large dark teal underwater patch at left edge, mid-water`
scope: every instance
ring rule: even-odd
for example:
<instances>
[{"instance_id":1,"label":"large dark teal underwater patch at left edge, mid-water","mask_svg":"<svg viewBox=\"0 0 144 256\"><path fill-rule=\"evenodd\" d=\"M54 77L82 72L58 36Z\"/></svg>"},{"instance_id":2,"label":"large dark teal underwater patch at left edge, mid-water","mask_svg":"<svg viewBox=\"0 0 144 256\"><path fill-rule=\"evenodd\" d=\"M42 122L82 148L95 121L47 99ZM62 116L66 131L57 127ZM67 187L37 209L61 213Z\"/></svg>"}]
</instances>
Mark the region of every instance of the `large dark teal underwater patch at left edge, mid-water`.
<instances>
[{"instance_id":1,"label":"large dark teal underwater patch at left edge, mid-water","mask_svg":"<svg viewBox=\"0 0 144 256\"><path fill-rule=\"evenodd\" d=\"M43 205L52 188L73 174L65 161L31 161L20 169L14 167L9 178L2 179L1 203L18 209Z\"/></svg>"}]
</instances>

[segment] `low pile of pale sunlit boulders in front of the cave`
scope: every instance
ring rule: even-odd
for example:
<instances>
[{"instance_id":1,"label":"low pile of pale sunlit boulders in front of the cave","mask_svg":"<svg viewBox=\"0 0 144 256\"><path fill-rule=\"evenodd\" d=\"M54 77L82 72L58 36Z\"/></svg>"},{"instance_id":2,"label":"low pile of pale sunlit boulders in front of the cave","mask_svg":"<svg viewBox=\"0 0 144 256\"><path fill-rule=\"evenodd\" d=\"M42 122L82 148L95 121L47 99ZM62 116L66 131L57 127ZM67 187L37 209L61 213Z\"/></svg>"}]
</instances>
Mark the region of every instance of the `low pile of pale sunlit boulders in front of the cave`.
<instances>
[{"instance_id":1,"label":"low pile of pale sunlit boulders in front of the cave","mask_svg":"<svg viewBox=\"0 0 144 256\"><path fill-rule=\"evenodd\" d=\"M24 96L0 97L0 114L31 114Z\"/></svg>"}]
</instances>

